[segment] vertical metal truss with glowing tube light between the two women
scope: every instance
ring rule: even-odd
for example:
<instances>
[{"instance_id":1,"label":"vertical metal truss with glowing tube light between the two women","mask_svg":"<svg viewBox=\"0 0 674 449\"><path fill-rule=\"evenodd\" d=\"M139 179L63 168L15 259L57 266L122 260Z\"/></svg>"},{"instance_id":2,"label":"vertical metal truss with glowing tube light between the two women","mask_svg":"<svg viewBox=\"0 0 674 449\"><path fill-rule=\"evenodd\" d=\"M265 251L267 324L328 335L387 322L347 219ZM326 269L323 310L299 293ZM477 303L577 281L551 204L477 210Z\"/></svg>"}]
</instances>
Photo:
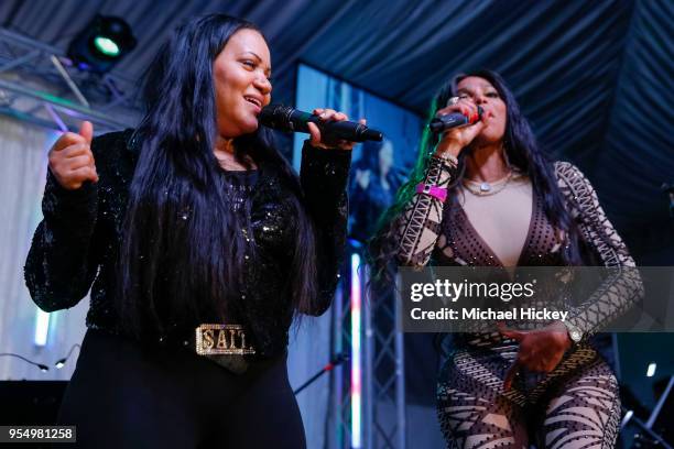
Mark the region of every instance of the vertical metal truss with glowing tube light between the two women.
<instances>
[{"instance_id":1,"label":"vertical metal truss with glowing tube light between the two women","mask_svg":"<svg viewBox=\"0 0 674 449\"><path fill-rule=\"evenodd\" d=\"M359 261L363 260L359 249L352 251L347 258L349 266L343 270L340 294L336 297L333 350L344 351L360 344L357 362L361 366L358 370L361 377L356 382L361 388L354 388L354 364L350 368L345 365L333 376L336 436L329 447L405 449L404 339L400 326L400 300L393 297L394 289L387 292L382 298L372 298L368 294L369 269L361 262L357 271L352 270L354 254ZM358 311L354 311L354 294L359 295ZM352 313L360 316L359 335L352 333ZM356 340L360 343L356 343ZM352 421L354 392L360 394L360 427L354 427ZM360 434L355 436L355 429L359 429Z\"/></svg>"}]
</instances>

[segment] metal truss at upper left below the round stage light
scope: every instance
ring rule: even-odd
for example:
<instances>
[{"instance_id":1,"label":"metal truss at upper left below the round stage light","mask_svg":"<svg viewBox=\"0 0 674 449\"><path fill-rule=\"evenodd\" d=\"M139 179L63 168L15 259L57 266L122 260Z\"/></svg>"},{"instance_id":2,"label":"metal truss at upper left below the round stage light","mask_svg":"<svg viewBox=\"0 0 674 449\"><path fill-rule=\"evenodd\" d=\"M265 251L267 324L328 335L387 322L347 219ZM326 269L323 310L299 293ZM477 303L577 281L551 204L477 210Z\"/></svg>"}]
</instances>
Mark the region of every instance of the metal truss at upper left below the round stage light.
<instances>
[{"instance_id":1,"label":"metal truss at upper left below the round stage light","mask_svg":"<svg viewBox=\"0 0 674 449\"><path fill-rule=\"evenodd\" d=\"M137 83L78 69L62 50L0 28L0 113L52 129L80 120L96 131L131 128L140 118Z\"/></svg>"}]
</instances>

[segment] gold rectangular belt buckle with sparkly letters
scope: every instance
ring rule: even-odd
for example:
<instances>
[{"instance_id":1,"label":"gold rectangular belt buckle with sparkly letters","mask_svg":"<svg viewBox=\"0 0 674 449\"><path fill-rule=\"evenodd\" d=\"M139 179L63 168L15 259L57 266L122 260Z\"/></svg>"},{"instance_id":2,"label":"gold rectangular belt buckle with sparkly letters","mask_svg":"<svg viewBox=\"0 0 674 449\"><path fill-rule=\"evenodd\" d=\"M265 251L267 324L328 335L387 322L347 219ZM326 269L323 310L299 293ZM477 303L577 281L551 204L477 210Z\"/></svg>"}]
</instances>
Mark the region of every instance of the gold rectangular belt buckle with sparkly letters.
<instances>
[{"instance_id":1,"label":"gold rectangular belt buckle with sparkly letters","mask_svg":"<svg viewBox=\"0 0 674 449\"><path fill-rule=\"evenodd\" d=\"M196 329L196 352L199 355L244 355L256 350L246 338L241 325L199 325Z\"/></svg>"}]
</instances>

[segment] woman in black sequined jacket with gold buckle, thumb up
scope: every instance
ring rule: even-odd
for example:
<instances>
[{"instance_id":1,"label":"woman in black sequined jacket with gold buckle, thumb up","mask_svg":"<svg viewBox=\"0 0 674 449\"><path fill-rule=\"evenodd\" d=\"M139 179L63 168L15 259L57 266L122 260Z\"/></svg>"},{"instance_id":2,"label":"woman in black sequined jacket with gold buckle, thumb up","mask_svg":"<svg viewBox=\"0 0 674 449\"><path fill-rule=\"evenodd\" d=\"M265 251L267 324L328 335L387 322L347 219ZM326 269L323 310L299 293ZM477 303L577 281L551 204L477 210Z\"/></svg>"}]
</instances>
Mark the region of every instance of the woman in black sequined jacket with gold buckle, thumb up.
<instances>
[{"instance_id":1,"label":"woman in black sequined jacket with gold buckle, thumb up","mask_svg":"<svg viewBox=\"0 0 674 449\"><path fill-rule=\"evenodd\" d=\"M305 446L289 328L330 305L354 144L311 124L297 178L258 123L270 77L258 28L195 19L152 64L138 129L85 122L51 150L25 278L47 311L94 284L59 413L81 447Z\"/></svg>"}]
</instances>

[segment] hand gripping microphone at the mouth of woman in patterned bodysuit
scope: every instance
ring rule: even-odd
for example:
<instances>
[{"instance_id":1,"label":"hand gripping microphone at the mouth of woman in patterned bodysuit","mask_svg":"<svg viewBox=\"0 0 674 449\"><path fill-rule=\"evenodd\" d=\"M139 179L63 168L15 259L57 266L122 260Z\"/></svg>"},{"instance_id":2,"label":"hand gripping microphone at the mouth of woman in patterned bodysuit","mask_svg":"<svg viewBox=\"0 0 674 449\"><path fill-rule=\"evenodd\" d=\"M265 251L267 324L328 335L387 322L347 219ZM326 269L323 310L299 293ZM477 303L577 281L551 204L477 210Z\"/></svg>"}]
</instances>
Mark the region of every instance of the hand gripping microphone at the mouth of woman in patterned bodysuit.
<instances>
[{"instance_id":1,"label":"hand gripping microphone at the mouth of woman in patterned bodysuit","mask_svg":"<svg viewBox=\"0 0 674 449\"><path fill-rule=\"evenodd\" d=\"M449 105L437 111L428 127L434 132L443 132L435 153L450 154L458 157L459 153L485 129L482 108L468 99L450 98Z\"/></svg>"}]
</instances>

